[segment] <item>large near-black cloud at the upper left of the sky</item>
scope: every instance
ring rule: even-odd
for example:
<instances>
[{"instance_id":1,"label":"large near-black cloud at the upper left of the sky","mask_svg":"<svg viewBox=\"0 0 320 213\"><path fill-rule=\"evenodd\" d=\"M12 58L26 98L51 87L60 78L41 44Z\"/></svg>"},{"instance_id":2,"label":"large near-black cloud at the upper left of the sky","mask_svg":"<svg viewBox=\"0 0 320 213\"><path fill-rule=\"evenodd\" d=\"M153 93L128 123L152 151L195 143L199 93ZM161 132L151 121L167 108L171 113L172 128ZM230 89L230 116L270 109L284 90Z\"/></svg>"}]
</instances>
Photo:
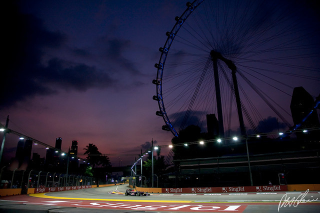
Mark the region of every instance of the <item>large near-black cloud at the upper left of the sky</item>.
<instances>
[{"instance_id":1,"label":"large near-black cloud at the upper left of the sky","mask_svg":"<svg viewBox=\"0 0 320 213\"><path fill-rule=\"evenodd\" d=\"M52 56L48 58L49 49L65 45L66 35L48 31L39 18L20 13L16 5L7 3L6 8L10 12L4 22L0 106L10 106L36 95L57 93L60 89L85 91L113 84L114 80L107 73L93 66ZM74 49L73 53L89 54L83 49ZM47 64L43 64L44 57Z\"/></svg>"}]
</instances>

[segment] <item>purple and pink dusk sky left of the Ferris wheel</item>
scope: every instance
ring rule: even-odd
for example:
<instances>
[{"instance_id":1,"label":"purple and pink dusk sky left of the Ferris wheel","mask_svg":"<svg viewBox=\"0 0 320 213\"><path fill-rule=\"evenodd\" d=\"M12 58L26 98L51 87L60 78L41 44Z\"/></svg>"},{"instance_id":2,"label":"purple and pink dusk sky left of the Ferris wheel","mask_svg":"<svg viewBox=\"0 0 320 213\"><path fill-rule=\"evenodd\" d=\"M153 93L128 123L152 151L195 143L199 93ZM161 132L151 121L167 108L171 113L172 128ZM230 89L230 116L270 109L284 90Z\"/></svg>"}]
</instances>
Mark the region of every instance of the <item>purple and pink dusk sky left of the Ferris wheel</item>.
<instances>
[{"instance_id":1,"label":"purple and pink dusk sky left of the Ferris wheel","mask_svg":"<svg viewBox=\"0 0 320 213\"><path fill-rule=\"evenodd\" d=\"M155 115L151 81L158 48L185 3L5 2L0 123L9 115L9 128L52 146L62 137L64 151L72 140L78 140L78 153L94 143L112 166L134 162L152 138L155 144L170 144L172 134L161 130L163 119ZM318 16L312 20L319 26ZM320 90L314 85L309 92L316 96ZM16 135L7 134L4 159L15 154L17 142ZM33 146L32 152L43 150ZM162 148L163 155L167 152Z\"/></svg>"}]
</instances>

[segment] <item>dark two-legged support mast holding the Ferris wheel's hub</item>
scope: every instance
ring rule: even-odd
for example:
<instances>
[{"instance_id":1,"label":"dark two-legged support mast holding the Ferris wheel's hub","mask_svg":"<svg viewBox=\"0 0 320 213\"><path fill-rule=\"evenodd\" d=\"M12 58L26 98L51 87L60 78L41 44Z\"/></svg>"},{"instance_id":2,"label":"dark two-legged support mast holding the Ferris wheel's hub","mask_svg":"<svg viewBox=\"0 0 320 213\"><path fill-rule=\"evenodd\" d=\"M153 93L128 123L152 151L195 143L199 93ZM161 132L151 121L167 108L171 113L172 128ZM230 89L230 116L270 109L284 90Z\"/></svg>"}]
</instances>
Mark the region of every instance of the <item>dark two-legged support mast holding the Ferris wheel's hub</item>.
<instances>
[{"instance_id":1,"label":"dark two-legged support mast holding the Ferris wheel's hub","mask_svg":"<svg viewBox=\"0 0 320 213\"><path fill-rule=\"evenodd\" d=\"M241 101L240 101L238 83L237 83L236 76L235 76L236 66L234 65L234 63L231 60L223 57L220 52L211 50L210 56L213 61L215 96L216 96L216 104L217 104L217 110L218 110L219 135L223 136L224 130L223 130L223 121L222 121L222 104L221 104L221 94L220 94L220 85L219 85L219 77L218 77L217 59L222 60L229 67L229 69L231 69L235 102L236 102L236 108L237 108L238 118L239 118L240 131L241 131L241 135L245 136L246 133L245 133L245 127L244 127L244 122L243 122ZM220 126L222 126L222 127L220 127Z\"/></svg>"}]
</instances>

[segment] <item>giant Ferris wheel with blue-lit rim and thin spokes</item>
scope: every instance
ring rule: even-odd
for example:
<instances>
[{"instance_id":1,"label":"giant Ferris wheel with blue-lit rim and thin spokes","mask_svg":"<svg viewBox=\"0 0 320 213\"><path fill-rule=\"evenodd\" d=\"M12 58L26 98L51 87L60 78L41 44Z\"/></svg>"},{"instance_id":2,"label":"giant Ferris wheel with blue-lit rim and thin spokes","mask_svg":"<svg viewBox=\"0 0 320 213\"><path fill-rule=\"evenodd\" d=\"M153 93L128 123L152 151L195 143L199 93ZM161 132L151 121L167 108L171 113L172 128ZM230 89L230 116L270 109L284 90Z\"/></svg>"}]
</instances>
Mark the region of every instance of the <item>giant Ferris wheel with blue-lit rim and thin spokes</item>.
<instances>
[{"instance_id":1,"label":"giant Ferris wheel with blue-lit rim and thin spokes","mask_svg":"<svg viewBox=\"0 0 320 213\"><path fill-rule=\"evenodd\" d=\"M208 114L217 115L220 135L271 130L268 118L292 126L293 88L320 92L319 20L301 2L187 2L155 64L162 129L176 137L190 124L205 131Z\"/></svg>"}]
</instances>

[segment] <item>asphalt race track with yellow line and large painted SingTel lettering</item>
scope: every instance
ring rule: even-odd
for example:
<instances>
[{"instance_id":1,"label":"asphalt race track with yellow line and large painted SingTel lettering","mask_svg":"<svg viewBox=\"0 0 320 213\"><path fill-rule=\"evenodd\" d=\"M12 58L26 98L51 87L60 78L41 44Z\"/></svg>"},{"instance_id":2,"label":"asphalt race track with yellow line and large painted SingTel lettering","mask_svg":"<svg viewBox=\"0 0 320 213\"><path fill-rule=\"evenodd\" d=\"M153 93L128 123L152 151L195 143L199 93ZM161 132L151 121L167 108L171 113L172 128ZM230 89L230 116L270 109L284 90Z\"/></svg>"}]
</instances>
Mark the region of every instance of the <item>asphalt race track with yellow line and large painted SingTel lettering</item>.
<instances>
[{"instance_id":1,"label":"asphalt race track with yellow line and large painted SingTel lettering","mask_svg":"<svg viewBox=\"0 0 320 213\"><path fill-rule=\"evenodd\" d=\"M128 184L0 197L0 212L319 212L319 191L151 193L125 196Z\"/></svg>"}]
</instances>

